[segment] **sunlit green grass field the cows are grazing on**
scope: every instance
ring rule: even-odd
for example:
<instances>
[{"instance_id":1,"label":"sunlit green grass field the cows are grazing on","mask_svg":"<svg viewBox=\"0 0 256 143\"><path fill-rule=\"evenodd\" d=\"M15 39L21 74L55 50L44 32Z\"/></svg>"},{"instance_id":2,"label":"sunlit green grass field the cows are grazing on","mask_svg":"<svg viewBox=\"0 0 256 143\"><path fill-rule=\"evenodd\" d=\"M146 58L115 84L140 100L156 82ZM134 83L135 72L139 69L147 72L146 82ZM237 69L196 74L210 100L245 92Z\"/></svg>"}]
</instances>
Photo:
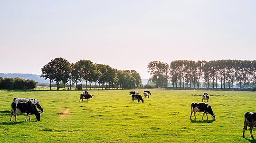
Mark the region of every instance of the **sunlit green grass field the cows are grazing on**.
<instances>
[{"instance_id":1,"label":"sunlit green grass field the cows are grazing on","mask_svg":"<svg viewBox=\"0 0 256 143\"><path fill-rule=\"evenodd\" d=\"M208 91L214 121L199 112L190 120L202 91L151 90L144 103L131 103L129 91L92 90L88 102L79 102L82 91L0 91L0 143L256 143L249 130L242 137L256 93ZM41 120L18 114L18 122L9 121L14 97L38 99Z\"/></svg>"}]
</instances>

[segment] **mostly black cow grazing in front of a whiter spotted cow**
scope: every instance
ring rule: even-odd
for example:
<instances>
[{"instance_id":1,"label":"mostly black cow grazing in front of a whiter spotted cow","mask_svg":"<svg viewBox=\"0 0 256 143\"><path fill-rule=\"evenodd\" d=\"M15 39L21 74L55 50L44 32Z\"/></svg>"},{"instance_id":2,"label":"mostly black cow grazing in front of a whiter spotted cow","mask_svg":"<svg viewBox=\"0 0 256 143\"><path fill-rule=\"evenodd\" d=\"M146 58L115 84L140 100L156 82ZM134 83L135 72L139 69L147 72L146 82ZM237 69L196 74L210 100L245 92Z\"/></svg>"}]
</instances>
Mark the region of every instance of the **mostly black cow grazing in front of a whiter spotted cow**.
<instances>
[{"instance_id":1,"label":"mostly black cow grazing in front of a whiter spotted cow","mask_svg":"<svg viewBox=\"0 0 256 143\"><path fill-rule=\"evenodd\" d=\"M27 116L25 119L26 122L28 121L27 120L28 117L29 117L29 120L31 120L30 114L32 115L34 114L38 121L40 121L40 118L41 118L41 113L38 112L36 105L31 102L12 102L10 121L11 121L11 117L14 115L15 122L17 122L16 116L18 113L27 113Z\"/></svg>"}]
</instances>

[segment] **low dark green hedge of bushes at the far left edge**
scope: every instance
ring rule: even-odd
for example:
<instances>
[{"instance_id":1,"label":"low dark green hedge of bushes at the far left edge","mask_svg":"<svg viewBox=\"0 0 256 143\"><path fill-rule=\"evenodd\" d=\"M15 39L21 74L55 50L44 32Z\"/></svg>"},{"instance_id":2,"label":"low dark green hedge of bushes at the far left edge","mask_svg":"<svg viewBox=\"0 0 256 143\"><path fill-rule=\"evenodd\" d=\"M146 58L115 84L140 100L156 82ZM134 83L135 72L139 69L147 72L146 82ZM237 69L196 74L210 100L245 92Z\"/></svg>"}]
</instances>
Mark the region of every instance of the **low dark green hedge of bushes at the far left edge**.
<instances>
[{"instance_id":1,"label":"low dark green hedge of bushes at the far left edge","mask_svg":"<svg viewBox=\"0 0 256 143\"><path fill-rule=\"evenodd\" d=\"M28 90L35 89L37 87L37 82L31 79L23 78L2 78L0 77L0 89L5 90Z\"/></svg>"}]
</instances>

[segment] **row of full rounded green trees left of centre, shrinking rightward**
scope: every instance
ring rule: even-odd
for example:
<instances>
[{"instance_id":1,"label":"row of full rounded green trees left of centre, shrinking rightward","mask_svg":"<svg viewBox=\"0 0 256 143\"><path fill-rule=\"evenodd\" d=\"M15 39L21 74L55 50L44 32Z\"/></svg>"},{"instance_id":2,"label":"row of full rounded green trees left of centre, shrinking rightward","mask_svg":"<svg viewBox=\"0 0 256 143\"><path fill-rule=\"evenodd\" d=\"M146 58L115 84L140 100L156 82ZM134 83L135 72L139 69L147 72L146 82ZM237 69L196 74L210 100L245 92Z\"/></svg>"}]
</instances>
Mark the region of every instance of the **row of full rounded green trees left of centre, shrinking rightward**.
<instances>
[{"instance_id":1,"label":"row of full rounded green trees left of centre, shrinking rightward","mask_svg":"<svg viewBox=\"0 0 256 143\"><path fill-rule=\"evenodd\" d=\"M64 58L55 58L41 68L41 77L50 80L50 89L53 81L57 84L57 90L61 83L77 84L85 82L92 86L92 83L102 88L108 86L114 88L132 89L142 86L141 76L135 70L118 70L104 64L94 64L91 60L81 59L76 63L70 63ZM81 86L80 86L81 87ZM94 86L95 87L95 86ZM100 87L100 86L98 86Z\"/></svg>"}]
</instances>

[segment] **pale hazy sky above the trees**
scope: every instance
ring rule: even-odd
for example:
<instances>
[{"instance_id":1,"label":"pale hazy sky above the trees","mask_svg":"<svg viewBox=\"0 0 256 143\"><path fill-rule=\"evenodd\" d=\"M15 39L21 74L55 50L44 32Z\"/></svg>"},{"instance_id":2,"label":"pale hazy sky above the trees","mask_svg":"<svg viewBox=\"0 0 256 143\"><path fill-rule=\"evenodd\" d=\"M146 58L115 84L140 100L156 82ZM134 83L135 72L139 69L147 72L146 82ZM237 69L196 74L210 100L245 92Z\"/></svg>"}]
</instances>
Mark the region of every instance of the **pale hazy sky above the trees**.
<instances>
[{"instance_id":1,"label":"pale hazy sky above the trees","mask_svg":"<svg viewBox=\"0 0 256 143\"><path fill-rule=\"evenodd\" d=\"M0 0L0 73L88 59L150 78L174 60L256 60L256 0Z\"/></svg>"}]
</instances>

